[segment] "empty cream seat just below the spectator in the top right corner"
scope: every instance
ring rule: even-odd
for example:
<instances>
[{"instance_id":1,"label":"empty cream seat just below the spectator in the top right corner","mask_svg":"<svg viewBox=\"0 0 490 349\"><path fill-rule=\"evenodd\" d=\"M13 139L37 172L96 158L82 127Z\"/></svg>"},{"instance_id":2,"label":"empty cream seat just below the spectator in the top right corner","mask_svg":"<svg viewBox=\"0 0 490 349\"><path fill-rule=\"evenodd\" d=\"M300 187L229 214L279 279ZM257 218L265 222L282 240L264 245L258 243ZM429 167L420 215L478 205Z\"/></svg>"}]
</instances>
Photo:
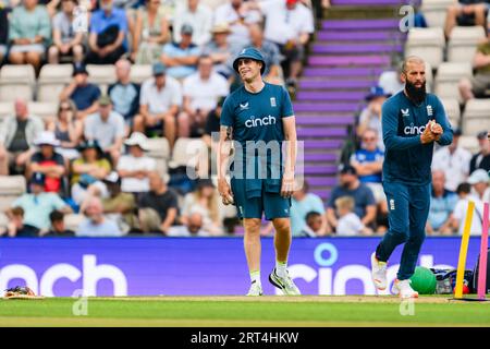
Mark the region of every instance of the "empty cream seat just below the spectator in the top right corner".
<instances>
[{"instance_id":1,"label":"empty cream seat just below the spectator in the top right corner","mask_svg":"<svg viewBox=\"0 0 490 349\"><path fill-rule=\"evenodd\" d=\"M456 26L448 44L448 61L468 62L475 56L478 41L485 39L482 26Z\"/></svg>"}]
</instances>

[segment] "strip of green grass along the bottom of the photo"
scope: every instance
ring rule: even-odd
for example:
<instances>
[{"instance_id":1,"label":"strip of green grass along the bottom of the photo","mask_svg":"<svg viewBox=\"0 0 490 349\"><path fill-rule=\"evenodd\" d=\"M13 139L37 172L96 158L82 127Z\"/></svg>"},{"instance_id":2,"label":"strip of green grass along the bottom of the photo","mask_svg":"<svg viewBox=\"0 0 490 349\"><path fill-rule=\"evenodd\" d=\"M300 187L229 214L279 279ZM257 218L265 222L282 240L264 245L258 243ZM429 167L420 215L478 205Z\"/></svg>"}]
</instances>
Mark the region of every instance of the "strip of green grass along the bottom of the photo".
<instances>
[{"instance_id":1,"label":"strip of green grass along the bottom of the photo","mask_svg":"<svg viewBox=\"0 0 490 349\"><path fill-rule=\"evenodd\" d=\"M87 316L73 315L75 302L0 299L0 326L490 326L490 302L448 297L421 297L406 316L394 297L88 298Z\"/></svg>"}]
</instances>

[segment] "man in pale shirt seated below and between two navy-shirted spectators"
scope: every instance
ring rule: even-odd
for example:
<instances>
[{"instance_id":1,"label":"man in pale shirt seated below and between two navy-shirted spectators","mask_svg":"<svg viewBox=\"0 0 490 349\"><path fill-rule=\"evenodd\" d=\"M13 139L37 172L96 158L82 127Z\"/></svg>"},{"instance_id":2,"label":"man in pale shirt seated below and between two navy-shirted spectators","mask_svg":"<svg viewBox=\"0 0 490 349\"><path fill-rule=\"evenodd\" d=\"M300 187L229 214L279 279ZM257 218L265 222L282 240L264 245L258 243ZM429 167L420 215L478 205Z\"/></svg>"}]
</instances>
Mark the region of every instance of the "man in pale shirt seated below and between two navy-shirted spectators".
<instances>
[{"instance_id":1,"label":"man in pale shirt seated below and between two navy-shirted spectators","mask_svg":"<svg viewBox=\"0 0 490 349\"><path fill-rule=\"evenodd\" d=\"M99 111L87 117L84 129L87 141L97 141L102 152L110 155L112 164L118 164L124 137L124 118L112 110L108 96L99 98Z\"/></svg>"}]
</instances>

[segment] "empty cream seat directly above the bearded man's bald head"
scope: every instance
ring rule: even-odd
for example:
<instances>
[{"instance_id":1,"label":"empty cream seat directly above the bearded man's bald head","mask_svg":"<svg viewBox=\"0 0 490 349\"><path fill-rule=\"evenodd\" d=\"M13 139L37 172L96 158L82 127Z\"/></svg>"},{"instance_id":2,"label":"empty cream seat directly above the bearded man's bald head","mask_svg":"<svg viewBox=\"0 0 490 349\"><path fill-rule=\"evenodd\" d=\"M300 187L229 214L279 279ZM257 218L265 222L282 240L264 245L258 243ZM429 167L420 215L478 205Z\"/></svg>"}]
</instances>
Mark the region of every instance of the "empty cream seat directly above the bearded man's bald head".
<instances>
[{"instance_id":1,"label":"empty cream seat directly above the bearded man's bald head","mask_svg":"<svg viewBox=\"0 0 490 349\"><path fill-rule=\"evenodd\" d=\"M433 69L437 69L443 61L444 45L442 28L413 28L408 32L405 56L424 57Z\"/></svg>"}]
</instances>

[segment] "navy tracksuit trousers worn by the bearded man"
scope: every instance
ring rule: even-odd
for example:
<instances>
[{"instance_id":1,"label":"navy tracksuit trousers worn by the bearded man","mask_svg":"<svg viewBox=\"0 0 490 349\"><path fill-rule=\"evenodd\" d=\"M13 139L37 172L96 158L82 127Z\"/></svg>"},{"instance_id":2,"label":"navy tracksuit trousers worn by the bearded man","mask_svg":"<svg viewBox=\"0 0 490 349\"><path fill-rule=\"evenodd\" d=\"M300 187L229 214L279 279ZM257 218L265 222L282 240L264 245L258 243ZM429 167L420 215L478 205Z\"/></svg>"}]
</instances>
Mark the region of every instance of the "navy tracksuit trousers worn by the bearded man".
<instances>
[{"instance_id":1,"label":"navy tracksuit trousers worn by the bearded man","mask_svg":"<svg viewBox=\"0 0 490 349\"><path fill-rule=\"evenodd\" d=\"M387 262L394 249L405 243L396 275L399 280L405 280L414 275L418 254L426 238L431 185L383 182L383 189L388 200L390 229L376 249L376 256L378 261Z\"/></svg>"}]
</instances>

